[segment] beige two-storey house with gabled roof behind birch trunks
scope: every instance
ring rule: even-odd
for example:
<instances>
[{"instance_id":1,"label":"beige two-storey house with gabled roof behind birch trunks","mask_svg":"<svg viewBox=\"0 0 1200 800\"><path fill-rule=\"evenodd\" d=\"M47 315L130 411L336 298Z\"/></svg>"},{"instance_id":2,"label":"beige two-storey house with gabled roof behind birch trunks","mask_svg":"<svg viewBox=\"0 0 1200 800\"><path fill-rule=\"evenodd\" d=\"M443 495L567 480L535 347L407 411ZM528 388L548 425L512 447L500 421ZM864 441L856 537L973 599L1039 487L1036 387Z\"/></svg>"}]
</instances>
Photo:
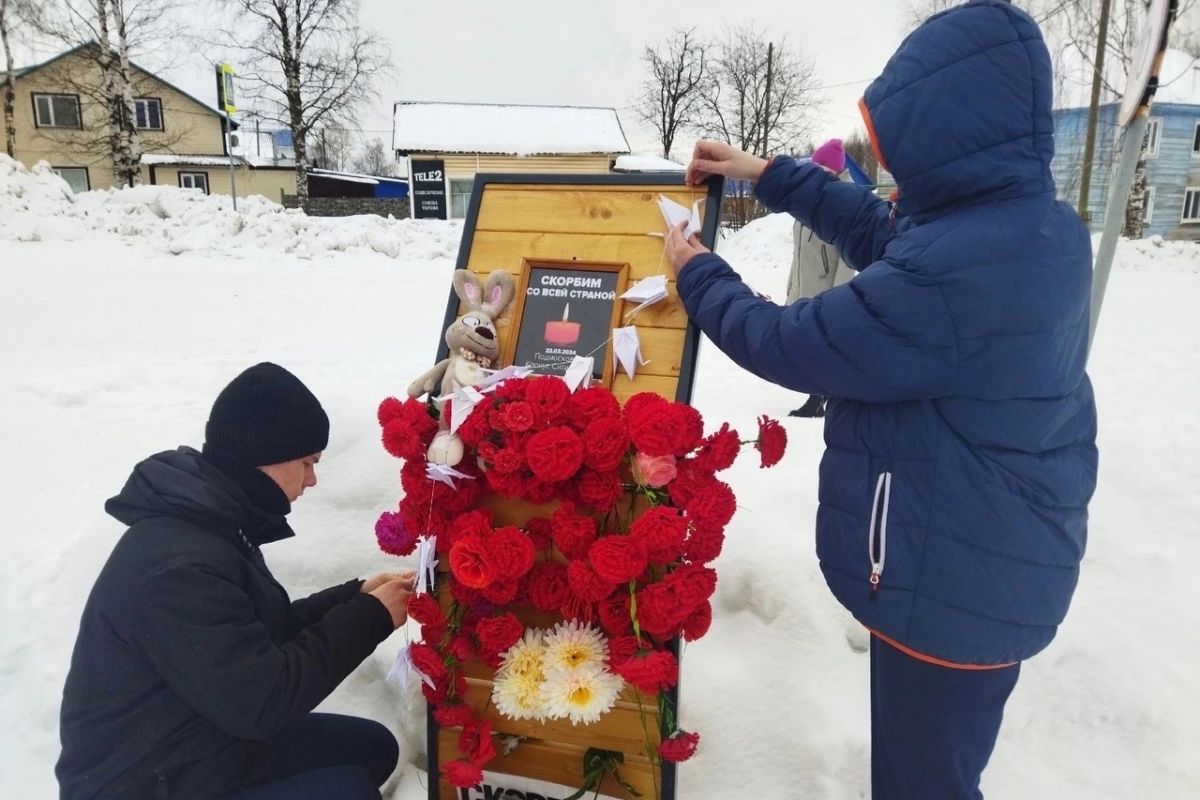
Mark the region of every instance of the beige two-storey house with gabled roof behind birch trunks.
<instances>
[{"instance_id":1,"label":"beige two-storey house with gabled roof behind birch trunks","mask_svg":"<svg viewBox=\"0 0 1200 800\"><path fill-rule=\"evenodd\" d=\"M13 71L17 85L17 160L48 162L76 192L113 186L102 77L89 42L48 61ZM142 181L229 194L224 118L212 107L132 65L134 126L142 145ZM4 74L0 73L0 79ZM234 158L238 196L278 200L295 193L288 167Z\"/></svg>"}]
</instances>

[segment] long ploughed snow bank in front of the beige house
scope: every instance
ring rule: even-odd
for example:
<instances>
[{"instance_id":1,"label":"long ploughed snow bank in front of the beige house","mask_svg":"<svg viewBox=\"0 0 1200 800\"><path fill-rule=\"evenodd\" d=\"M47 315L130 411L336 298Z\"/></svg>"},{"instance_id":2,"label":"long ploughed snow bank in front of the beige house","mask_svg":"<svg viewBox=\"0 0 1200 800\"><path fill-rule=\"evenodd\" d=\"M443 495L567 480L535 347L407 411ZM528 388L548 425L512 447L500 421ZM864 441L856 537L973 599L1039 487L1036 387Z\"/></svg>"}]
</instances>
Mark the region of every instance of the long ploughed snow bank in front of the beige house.
<instances>
[{"instance_id":1,"label":"long ploughed snow bank in front of the beige house","mask_svg":"<svg viewBox=\"0 0 1200 800\"><path fill-rule=\"evenodd\" d=\"M373 252L430 259L457 253L460 227L377 216L310 217L258 196L239 199L234 211L226 196L174 186L76 196L46 163L29 170L0 155L0 241L78 241L96 234L148 242L173 255Z\"/></svg>"}]
</instances>

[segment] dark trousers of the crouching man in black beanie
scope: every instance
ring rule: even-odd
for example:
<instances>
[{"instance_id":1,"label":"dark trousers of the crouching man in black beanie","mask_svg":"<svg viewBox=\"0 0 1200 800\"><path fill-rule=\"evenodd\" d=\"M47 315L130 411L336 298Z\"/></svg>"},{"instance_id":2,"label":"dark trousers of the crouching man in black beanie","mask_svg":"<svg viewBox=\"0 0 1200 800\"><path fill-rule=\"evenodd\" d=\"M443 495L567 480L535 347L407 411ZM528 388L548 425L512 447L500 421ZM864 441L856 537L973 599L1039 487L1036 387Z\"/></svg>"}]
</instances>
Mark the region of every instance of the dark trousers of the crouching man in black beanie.
<instances>
[{"instance_id":1,"label":"dark trousers of the crouching man in black beanie","mask_svg":"<svg viewBox=\"0 0 1200 800\"><path fill-rule=\"evenodd\" d=\"M308 714L266 742L230 800L379 800L398 757L378 722Z\"/></svg>"}]
</instances>

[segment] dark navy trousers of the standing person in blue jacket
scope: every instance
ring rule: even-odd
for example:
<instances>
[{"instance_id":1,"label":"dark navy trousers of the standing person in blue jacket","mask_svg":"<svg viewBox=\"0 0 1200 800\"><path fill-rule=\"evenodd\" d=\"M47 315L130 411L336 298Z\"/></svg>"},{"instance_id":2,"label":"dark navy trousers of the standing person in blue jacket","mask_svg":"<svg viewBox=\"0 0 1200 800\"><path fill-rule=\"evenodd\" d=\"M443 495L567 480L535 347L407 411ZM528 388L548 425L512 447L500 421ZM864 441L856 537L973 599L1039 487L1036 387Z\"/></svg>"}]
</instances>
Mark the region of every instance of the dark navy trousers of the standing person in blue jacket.
<instances>
[{"instance_id":1,"label":"dark navy trousers of the standing person in blue jacket","mask_svg":"<svg viewBox=\"0 0 1200 800\"><path fill-rule=\"evenodd\" d=\"M1021 666L950 669L871 637L871 798L982 800Z\"/></svg>"}]
</instances>

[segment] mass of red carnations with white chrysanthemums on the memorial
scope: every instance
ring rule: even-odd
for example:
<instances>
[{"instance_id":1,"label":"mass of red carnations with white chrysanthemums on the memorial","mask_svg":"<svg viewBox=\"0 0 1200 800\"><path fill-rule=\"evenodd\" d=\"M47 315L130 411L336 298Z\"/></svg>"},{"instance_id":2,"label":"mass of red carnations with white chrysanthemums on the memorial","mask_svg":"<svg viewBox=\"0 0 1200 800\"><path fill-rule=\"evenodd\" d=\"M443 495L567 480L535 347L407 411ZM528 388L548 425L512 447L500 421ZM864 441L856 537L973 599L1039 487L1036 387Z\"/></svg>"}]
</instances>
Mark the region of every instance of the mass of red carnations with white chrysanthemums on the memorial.
<instances>
[{"instance_id":1,"label":"mass of red carnations with white chrysanthemums on the memorial","mask_svg":"<svg viewBox=\"0 0 1200 800\"><path fill-rule=\"evenodd\" d=\"M449 413L443 409L443 413ZM624 405L593 386L571 393L557 377L515 378L478 403L457 433L466 456L454 486L430 480L425 452L438 431L431 403L385 399L383 445L404 459L403 499L376 527L379 547L408 555L433 541L449 602L419 595L409 616L422 642L410 648L421 691L444 727L461 727L461 757L443 765L454 786L480 780L496 756L482 718L494 704L510 718L589 724L623 686L656 696L665 739L647 736L652 762L685 760L697 733L674 722L678 637L704 636L721 553L737 501L718 474L743 445L776 464L787 434L761 417L758 437L730 426L704 434L696 409L654 393ZM542 513L497 524L485 494L524 500ZM527 627L514 610L563 621ZM528 614L526 614L528 616ZM496 672L482 708L467 703L463 666ZM586 698L581 700L580 698Z\"/></svg>"}]
</instances>

